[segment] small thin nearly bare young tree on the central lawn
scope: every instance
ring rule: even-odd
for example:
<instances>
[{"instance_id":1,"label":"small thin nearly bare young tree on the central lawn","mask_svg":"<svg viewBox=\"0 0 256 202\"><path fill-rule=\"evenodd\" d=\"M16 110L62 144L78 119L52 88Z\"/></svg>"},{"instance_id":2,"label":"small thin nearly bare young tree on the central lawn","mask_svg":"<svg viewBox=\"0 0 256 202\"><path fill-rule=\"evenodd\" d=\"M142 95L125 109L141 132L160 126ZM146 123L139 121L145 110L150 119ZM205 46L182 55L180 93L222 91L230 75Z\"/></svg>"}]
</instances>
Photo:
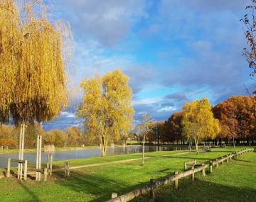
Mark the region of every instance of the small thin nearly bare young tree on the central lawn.
<instances>
[{"instance_id":1,"label":"small thin nearly bare young tree on the central lawn","mask_svg":"<svg viewBox=\"0 0 256 202\"><path fill-rule=\"evenodd\" d=\"M145 138L146 135L149 134L154 128L154 123L152 121L152 117L147 113L142 114L142 119L137 118L140 124L137 125L136 130L143 137L143 145L142 145L142 165L144 165L144 146L145 146Z\"/></svg>"}]
</instances>

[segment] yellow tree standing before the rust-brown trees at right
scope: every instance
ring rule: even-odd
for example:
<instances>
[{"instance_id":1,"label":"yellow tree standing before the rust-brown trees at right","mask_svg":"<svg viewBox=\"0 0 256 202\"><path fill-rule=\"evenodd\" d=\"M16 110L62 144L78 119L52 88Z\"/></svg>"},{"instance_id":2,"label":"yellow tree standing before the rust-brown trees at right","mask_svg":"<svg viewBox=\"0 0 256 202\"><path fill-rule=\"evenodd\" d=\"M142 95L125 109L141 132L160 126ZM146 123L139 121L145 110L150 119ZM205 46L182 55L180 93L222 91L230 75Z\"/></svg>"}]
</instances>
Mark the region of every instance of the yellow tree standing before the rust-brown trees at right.
<instances>
[{"instance_id":1,"label":"yellow tree standing before the rust-brown trees at right","mask_svg":"<svg viewBox=\"0 0 256 202\"><path fill-rule=\"evenodd\" d=\"M213 118L210 103L206 98L192 103L186 102L182 112L182 135L188 140L195 141L198 154L198 142L213 139L220 133L218 119Z\"/></svg>"}]
</instances>

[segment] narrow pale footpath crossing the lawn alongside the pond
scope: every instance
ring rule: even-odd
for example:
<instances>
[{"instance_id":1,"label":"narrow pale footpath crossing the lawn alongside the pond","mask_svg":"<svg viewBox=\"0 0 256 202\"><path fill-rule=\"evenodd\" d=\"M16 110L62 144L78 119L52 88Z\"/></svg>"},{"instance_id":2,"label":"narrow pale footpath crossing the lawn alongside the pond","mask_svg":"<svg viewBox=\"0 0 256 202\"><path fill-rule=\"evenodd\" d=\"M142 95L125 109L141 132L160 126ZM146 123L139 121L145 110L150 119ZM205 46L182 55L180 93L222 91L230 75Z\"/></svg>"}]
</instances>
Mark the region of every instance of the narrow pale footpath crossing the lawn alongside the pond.
<instances>
[{"instance_id":1,"label":"narrow pale footpath crossing the lawn alongside the pond","mask_svg":"<svg viewBox=\"0 0 256 202\"><path fill-rule=\"evenodd\" d=\"M171 155L162 155L158 157L167 157L167 156L174 156L174 155L185 155L191 152L182 152L182 153L176 153L176 154L171 154ZM144 159L151 159L151 158L156 158L156 157L144 157ZM85 168L85 167L95 167L95 166L102 166L102 165L107 165L107 164L116 164L116 163L122 163L122 162L132 162L132 161L137 161L142 158L137 158L137 159L125 159L125 160L119 160L119 161L114 161L114 162L104 162L104 163L98 163L98 164L87 164L87 165L81 165L81 166L75 166L75 167L70 167L70 169L80 169L80 168ZM63 168L58 168L58 169L53 169L53 172L59 171L59 170L64 170ZM35 171L28 171L28 174L35 174ZM0 179L4 178L4 175L0 175Z\"/></svg>"}]
</instances>

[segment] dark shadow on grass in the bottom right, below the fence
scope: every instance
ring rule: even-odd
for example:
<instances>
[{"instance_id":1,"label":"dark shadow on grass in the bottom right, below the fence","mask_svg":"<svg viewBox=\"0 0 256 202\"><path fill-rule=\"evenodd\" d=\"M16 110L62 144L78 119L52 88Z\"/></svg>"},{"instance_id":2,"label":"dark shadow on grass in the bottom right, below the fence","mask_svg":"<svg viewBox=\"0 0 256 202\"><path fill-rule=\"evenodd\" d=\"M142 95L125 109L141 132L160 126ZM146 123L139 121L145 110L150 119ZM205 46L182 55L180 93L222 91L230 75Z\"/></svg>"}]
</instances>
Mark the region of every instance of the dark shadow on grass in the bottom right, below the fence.
<instances>
[{"instance_id":1,"label":"dark shadow on grass in the bottom right, below the fence","mask_svg":"<svg viewBox=\"0 0 256 202\"><path fill-rule=\"evenodd\" d=\"M248 187L225 186L209 181L181 179L178 190L167 184L155 189L155 202L169 201L256 201L256 190ZM149 194L144 194L132 200L149 201Z\"/></svg>"}]
</instances>

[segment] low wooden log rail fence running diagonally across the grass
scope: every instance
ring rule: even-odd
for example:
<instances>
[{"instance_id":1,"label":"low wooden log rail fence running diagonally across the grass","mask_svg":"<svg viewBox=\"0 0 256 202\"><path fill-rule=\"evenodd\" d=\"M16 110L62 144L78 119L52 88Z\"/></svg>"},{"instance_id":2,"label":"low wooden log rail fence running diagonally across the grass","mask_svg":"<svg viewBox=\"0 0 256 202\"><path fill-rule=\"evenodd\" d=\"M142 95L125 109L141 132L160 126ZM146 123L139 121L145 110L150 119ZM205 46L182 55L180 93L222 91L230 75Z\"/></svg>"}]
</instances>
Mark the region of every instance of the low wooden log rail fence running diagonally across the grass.
<instances>
[{"instance_id":1,"label":"low wooden log rail fence running diagonally across the grass","mask_svg":"<svg viewBox=\"0 0 256 202\"><path fill-rule=\"evenodd\" d=\"M213 169L213 165L216 165L216 167L218 167L218 164L223 164L224 162L228 162L229 159L232 159L233 157L238 157L240 155L242 155L245 152L252 152L253 149L247 149L247 150L241 150L240 152L235 152L233 154L227 155L225 157L221 157L220 159L216 159L215 161L211 161L210 162L210 166L209 166L209 171L212 172ZM146 192L150 191L150 196L151 199L153 199L152 201L154 201L154 189L163 186L164 184L168 184L171 181L174 181L174 186L175 189L178 189L178 179L181 179L185 176L190 176L191 175L191 180L193 181L195 179L195 173L197 172L202 172L202 175L205 176L206 175L206 168L208 167L208 164L196 164L196 162L188 162L188 164L195 164L196 168L193 168L179 173L175 172L174 175L167 177L166 179L161 179L159 181L154 181L154 179L150 179L150 183L146 186L143 186L142 188L136 189L134 191L131 191L129 193L125 193L122 196L117 196L117 193L112 193L112 199L106 201L106 202L125 202L125 201L130 201L133 198L136 198ZM185 164L184 164L185 165Z\"/></svg>"}]
</instances>

